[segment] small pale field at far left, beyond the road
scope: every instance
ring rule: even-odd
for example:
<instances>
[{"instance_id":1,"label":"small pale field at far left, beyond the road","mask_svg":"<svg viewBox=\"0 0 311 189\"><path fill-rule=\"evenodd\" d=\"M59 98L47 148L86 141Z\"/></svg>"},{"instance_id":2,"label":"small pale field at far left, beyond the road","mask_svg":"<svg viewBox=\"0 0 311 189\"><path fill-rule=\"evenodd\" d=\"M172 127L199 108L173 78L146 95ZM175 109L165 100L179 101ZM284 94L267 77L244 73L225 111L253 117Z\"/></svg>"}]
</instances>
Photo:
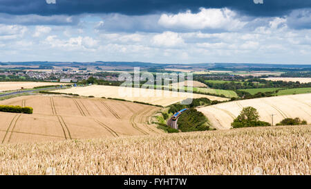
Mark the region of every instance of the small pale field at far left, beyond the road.
<instances>
[{"instance_id":1,"label":"small pale field at far left, beyond the road","mask_svg":"<svg viewBox=\"0 0 311 189\"><path fill-rule=\"evenodd\" d=\"M50 86L56 84L68 84L59 82L0 82L0 91L13 91L23 87L23 89L32 89L34 87Z\"/></svg>"}]
</instances>

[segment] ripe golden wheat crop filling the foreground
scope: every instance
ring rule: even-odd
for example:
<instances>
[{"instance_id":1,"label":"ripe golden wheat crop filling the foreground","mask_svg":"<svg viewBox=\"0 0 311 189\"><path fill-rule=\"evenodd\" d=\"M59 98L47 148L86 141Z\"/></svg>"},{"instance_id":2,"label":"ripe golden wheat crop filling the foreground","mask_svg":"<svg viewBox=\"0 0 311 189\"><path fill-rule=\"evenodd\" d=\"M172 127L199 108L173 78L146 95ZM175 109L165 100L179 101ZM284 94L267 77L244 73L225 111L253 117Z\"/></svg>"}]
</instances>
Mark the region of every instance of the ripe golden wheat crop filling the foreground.
<instances>
[{"instance_id":1,"label":"ripe golden wheat crop filling the foreground","mask_svg":"<svg viewBox=\"0 0 311 189\"><path fill-rule=\"evenodd\" d=\"M0 174L311 174L311 126L0 145Z\"/></svg>"}]
</instances>

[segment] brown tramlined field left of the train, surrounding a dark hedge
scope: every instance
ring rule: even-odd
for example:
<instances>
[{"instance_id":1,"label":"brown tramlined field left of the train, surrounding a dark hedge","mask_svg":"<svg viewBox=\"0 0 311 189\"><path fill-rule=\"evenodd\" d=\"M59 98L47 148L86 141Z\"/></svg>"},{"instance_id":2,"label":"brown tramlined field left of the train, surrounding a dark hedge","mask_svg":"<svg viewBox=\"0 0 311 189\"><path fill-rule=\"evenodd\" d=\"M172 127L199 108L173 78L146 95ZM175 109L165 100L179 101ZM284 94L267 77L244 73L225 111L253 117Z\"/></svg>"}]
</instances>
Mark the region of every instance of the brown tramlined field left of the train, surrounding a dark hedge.
<instances>
[{"instance_id":1,"label":"brown tramlined field left of the train, surrounding a dark hedge","mask_svg":"<svg viewBox=\"0 0 311 189\"><path fill-rule=\"evenodd\" d=\"M158 107L133 102L63 96L21 96L1 105L33 107L33 114L0 112L1 143L63 141L162 134L149 125Z\"/></svg>"}]
</instances>

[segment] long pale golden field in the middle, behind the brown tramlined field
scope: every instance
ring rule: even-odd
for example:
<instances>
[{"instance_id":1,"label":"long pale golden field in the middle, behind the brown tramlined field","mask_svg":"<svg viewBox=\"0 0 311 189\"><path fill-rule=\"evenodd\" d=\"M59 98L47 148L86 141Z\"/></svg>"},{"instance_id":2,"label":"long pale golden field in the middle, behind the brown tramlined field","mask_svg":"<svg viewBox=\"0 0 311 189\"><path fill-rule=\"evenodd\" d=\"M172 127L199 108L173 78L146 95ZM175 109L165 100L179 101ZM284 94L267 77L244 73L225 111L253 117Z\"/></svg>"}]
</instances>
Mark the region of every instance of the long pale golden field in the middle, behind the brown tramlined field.
<instances>
[{"instance_id":1,"label":"long pale golden field in the middle, behind the brown tramlined field","mask_svg":"<svg viewBox=\"0 0 311 189\"><path fill-rule=\"evenodd\" d=\"M209 100L225 101L227 98L217 96L201 95L196 93L182 93L176 91L165 91L156 89L141 89L131 87L114 87L104 85L92 85L88 87L73 87L71 89L61 89L55 92L75 93L79 96L95 96L98 98L121 98L124 100L147 102L153 105L168 105L180 102L187 98L209 98Z\"/></svg>"}]
</instances>

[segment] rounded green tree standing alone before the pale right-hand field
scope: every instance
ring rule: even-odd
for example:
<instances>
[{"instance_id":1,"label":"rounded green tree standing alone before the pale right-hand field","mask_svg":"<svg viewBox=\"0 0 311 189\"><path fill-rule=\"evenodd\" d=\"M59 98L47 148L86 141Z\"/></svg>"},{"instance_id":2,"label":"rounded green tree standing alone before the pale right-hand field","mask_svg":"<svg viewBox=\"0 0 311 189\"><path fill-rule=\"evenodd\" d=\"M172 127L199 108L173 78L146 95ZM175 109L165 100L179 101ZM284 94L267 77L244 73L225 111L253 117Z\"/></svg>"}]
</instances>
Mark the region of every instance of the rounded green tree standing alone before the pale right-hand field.
<instances>
[{"instance_id":1,"label":"rounded green tree standing alone before the pale right-hand field","mask_svg":"<svg viewBox=\"0 0 311 189\"><path fill-rule=\"evenodd\" d=\"M259 114L254 107L244 107L241 114L234 119L231 123L232 127L258 127L258 126L270 126L270 123L259 120Z\"/></svg>"}]
</instances>

